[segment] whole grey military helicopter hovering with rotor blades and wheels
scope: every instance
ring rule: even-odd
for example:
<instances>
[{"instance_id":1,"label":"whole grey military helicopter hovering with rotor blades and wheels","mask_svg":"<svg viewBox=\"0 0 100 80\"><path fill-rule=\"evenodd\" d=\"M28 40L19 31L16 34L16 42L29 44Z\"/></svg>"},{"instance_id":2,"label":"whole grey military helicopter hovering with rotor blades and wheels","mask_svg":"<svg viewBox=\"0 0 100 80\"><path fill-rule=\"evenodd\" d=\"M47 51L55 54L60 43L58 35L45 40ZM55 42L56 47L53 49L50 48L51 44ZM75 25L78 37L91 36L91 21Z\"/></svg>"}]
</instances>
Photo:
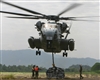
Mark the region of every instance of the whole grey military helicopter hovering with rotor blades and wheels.
<instances>
[{"instance_id":1,"label":"whole grey military helicopter hovering with rotor blades and wheels","mask_svg":"<svg viewBox=\"0 0 100 80\"><path fill-rule=\"evenodd\" d=\"M43 49L45 52L53 52L53 53L59 53L62 50L63 57L67 57L67 50L73 51L74 50L74 39L67 39L68 34L70 33L71 25L68 26L65 22L59 22L60 20L71 20L71 21L87 21L87 20L78 20L77 18L83 18L83 17L60 17L65 12L68 12L69 10L72 10L80 4L72 4L62 12L60 12L58 15L45 15L33 10L29 10L20 6L17 6L15 4L5 2L3 0L0 0L0 2L13 6L16 8L19 8L21 10L24 10L26 12L35 14L23 14L23 13L15 13L15 12L8 12L8 11L0 11L0 13L7 13L12 15L18 15L21 17L8 17L8 18L18 18L18 19L46 19L48 20L47 23L38 21L36 23L37 31L39 32L39 35L41 36L38 39L35 39L34 37L30 37L28 39L28 43L32 49L37 48L36 55L41 55L41 51L39 49ZM66 33L65 37L63 33ZM63 38L64 37L64 38Z\"/></svg>"}]
</instances>

